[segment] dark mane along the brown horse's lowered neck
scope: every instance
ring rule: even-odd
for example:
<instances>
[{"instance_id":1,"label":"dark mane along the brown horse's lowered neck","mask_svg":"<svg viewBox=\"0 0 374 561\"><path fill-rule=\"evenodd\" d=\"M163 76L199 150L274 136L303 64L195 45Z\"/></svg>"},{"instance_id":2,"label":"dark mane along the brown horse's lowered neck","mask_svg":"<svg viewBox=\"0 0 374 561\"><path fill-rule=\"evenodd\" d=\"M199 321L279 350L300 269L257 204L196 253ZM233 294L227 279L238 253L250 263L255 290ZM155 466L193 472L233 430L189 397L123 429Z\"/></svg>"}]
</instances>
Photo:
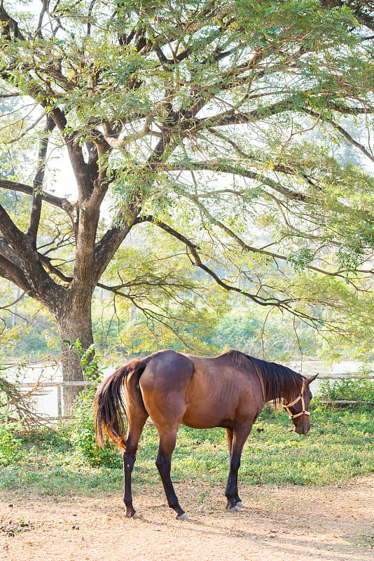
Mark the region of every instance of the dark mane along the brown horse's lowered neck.
<instances>
[{"instance_id":1,"label":"dark mane along the brown horse's lowered neck","mask_svg":"<svg viewBox=\"0 0 374 561\"><path fill-rule=\"evenodd\" d=\"M265 402L272 400L274 405L292 401L301 390L304 377L291 368L267 360L254 358L240 351L228 351L223 356L229 358L233 365L247 372L256 372L261 381Z\"/></svg>"}]
</instances>

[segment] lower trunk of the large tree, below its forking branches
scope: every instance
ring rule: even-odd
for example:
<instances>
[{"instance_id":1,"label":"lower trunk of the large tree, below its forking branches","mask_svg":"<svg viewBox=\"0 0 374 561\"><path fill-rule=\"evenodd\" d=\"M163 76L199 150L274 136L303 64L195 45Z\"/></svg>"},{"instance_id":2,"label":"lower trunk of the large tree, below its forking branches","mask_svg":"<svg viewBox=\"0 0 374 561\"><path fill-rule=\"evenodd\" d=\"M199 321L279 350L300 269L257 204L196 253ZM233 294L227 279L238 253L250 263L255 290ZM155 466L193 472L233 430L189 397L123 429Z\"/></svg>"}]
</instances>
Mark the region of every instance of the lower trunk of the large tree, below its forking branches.
<instances>
[{"instance_id":1,"label":"lower trunk of the large tree, below its forking branches","mask_svg":"<svg viewBox=\"0 0 374 561\"><path fill-rule=\"evenodd\" d=\"M88 290L88 292L90 292ZM55 315L55 321L61 337L62 351L62 380L81 381L83 370L81 357L76 350L70 349L71 344L78 342L79 347L86 351L93 343L91 321L91 296L85 302L74 302L68 299L66 305L60 306ZM63 388L63 414L70 415L76 398L83 390L83 386L67 386Z\"/></svg>"}]
</instances>

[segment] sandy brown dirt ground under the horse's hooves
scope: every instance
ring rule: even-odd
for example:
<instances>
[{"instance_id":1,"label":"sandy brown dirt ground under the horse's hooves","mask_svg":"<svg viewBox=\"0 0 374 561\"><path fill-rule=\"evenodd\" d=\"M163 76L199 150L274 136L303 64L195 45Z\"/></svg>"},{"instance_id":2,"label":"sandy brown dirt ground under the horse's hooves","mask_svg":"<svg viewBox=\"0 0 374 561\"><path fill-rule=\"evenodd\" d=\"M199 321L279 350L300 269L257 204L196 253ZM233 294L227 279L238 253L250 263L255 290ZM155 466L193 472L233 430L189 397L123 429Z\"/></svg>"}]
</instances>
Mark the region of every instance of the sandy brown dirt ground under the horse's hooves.
<instances>
[{"instance_id":1,"label":"sandy brown dirt ground under the horse's hooves","mask_svg":"<svg viewBox=\"0 0 374 561\"><path fill-rule=\"evenodd\" d=\"M340 485L242 487L225 511L223 487L176 484L191 520L175 520L160 488L135 489L139 518L118 494L0 495L4 561L374 560L374 476Z\"/></svg>"}]
</instances>

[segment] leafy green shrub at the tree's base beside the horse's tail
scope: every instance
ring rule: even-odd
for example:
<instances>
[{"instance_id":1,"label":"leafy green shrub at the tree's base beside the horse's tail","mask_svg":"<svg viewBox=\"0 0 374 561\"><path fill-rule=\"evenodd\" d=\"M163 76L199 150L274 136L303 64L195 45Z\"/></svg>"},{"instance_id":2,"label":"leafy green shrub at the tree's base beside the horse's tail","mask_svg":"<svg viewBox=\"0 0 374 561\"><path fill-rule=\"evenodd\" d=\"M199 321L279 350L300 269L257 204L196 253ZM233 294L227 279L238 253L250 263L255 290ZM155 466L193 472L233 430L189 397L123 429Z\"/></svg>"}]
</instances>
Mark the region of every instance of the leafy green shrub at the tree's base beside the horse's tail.
<instances>
[{"instance_id":1,"label":"leafy green shrub at the tree's base beside the horse's tail","mask_svg":"<svg viewBox=\"0 0 374 561\"><path fill-rule=\"evenodd\" d=\"M100 448L95 442L95 419L93 410L93 396L95 389L81 394L76 402L74 420L71 423L71 445L76 452L76 457L88 461L90 466L108 466L119 468L122 458L118 449L110 442Z\"/></svg>"}]
</instances>

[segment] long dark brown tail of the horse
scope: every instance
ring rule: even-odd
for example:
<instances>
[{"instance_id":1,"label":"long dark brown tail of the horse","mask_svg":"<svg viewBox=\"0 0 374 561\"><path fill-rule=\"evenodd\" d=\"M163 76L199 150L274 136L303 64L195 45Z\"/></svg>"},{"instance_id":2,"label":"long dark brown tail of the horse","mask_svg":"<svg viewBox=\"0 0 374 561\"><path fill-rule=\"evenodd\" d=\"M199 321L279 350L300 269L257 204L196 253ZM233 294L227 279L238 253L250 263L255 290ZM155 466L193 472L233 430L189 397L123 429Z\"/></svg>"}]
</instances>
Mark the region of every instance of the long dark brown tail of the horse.
<instances>
[{"instance_id":1,"label":"long dark brown tail of the horse","mask_svg":"<svg viewBox=\"0 0 374 561\"><path fill-rule=\"evenodd\" d=\"M126 407L123 401L123 386L130 374L139 373L146 367L144 360L132 360L102 381L94 398L96 442L104 446L109 438L116 445L125 448Z\"/></svg>"}]
</instances>

